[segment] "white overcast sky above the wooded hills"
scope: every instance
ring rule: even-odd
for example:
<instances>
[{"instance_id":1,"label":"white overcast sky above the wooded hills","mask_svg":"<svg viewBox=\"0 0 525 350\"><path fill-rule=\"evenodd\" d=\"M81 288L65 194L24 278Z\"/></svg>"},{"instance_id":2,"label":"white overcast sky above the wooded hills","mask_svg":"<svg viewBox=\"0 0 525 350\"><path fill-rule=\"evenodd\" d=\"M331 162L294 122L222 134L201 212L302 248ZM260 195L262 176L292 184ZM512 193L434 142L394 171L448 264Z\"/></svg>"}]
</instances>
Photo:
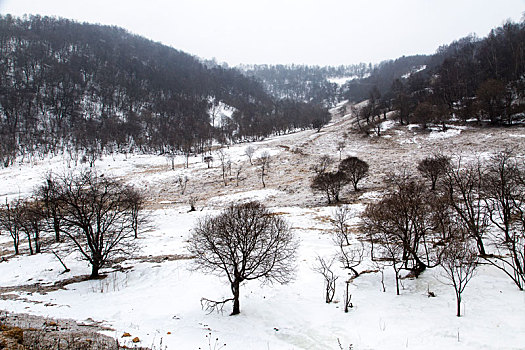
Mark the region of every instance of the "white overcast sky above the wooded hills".
<instances>
[{"instance_id":1,"label":"white overcast sky above the wooded hills","mask_svg":"<svg viewBox=\"0 0 525 350\"><path fill-rule=\"evenodd\" d=\"M202 58L339 65L430 54L525 0L0 0L0 13L117 25Z\"/></svg>"}]
</instances>

